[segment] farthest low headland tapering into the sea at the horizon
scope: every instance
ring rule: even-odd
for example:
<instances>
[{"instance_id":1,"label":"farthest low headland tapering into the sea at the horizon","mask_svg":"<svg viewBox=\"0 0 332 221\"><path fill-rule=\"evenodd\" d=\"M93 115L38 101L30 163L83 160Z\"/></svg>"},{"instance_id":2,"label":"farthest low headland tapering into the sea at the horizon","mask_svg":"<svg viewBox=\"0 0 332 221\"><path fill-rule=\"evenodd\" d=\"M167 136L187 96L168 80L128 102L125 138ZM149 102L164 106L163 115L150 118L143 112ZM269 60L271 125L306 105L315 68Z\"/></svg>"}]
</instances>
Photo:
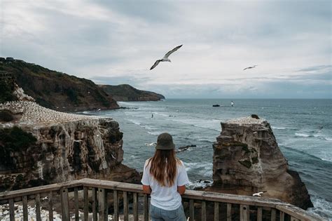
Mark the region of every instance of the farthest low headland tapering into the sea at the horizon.
<instances>
[{"instance_id":1,"label":"farthest low headland tapering into the sea at the horizon","mask_svg":"<svg viewBox=\"0 0 332 221\"><path fill-rule=\"evenodd\" d=\"M118 86L99 85L116 101L157 101L165 99L163 95L151 91L141 91L128 84Z\"/></svg>"}]
</instances>

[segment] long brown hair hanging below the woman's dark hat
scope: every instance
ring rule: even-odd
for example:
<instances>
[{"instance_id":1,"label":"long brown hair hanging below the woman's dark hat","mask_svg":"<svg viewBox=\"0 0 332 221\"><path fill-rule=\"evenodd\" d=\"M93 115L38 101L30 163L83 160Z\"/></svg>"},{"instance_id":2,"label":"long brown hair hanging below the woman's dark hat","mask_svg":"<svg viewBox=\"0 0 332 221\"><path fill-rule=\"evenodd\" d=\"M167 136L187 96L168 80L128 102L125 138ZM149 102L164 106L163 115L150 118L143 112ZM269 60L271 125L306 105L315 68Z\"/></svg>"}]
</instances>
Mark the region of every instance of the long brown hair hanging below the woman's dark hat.
<instances>
[{"instance_id":1,"label":"long brown hair hanging below the woman's dark hat","mask_svg":"<svg viewBox=\"0 0 332 221\"><path fill-rule=\"evenodd\" d=\"M150 173L162 187L172 187L177 175L177 163L181 163L175 156L174 149L156 149L152 158L148 159Z\"/></svg>"}]
</instances>

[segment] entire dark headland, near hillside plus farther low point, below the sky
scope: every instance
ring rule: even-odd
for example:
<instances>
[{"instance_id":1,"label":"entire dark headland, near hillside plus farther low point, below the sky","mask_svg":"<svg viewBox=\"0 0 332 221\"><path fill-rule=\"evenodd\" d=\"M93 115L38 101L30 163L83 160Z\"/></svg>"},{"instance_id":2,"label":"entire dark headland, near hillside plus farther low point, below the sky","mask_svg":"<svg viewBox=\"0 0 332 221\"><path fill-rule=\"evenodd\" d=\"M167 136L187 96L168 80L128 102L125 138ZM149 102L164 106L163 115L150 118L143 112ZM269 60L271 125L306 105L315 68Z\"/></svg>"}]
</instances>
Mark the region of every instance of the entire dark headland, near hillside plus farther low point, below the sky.
<instances>
[{"instance_id":1,"label":"entire dark headland, near hillside plus farther low point, below the sky","mask_svg":"<svg viewBox=\"0 0 332 221\"><path fill-rule=\"evenodd\" d=\"M10 82L11 90L15 89L12 82L15 81L39 105L62 112L118 109L117 101L155 101L165 98L158 93L140 91L130 85L98 86L91 80L12 57L0 58L0 79L2 83ZM4 97L4 93L6 91L1 91L0 97ZM9 98L10 100L15 98Z\"/></svg>"}]
</instances>

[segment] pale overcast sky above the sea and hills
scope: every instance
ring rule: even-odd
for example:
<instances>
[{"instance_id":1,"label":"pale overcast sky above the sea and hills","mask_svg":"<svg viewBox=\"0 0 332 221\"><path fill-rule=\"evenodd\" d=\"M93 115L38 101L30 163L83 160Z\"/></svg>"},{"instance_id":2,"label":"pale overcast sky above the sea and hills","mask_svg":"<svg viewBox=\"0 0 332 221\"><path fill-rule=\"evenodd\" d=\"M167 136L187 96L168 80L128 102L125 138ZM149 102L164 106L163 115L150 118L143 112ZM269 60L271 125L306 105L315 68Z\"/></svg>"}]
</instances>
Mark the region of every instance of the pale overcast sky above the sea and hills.
<instances>
[{"instance_id":1,"label":"pale overcast sky above the sea and hills","mask_svg":"<svg viewBox=\"0 0 332 221\"><path fill-rule=\"evenodd\" d=\"M332 98L331 1L0 0L0 13L1 57L95 83L166 98Z\"/></svg>"}]
</instances>

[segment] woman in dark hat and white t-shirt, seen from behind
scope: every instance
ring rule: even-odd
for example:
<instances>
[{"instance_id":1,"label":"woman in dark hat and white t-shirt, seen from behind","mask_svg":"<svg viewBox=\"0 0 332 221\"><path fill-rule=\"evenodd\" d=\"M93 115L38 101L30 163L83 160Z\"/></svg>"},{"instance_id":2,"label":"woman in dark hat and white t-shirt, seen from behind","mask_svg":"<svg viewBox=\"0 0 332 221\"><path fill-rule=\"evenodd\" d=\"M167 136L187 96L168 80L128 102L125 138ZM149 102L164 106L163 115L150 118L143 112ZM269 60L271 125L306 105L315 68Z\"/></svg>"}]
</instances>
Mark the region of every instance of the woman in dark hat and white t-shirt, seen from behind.
<instances>
[{"instance_id":1,"label":"woman in dark hat and white t-shirt, seen from behind","mask_svg":"<svg viewBox=\"0 0 332 221\"><path fill-rule=\"evenodd\" d=\"M184 163L175 156L172 136L158 136L155 154L144 164L143 192L151 194L150 215L153 221L185 221L181 195L189 182Z\"/></svg>"}]
</instances>

